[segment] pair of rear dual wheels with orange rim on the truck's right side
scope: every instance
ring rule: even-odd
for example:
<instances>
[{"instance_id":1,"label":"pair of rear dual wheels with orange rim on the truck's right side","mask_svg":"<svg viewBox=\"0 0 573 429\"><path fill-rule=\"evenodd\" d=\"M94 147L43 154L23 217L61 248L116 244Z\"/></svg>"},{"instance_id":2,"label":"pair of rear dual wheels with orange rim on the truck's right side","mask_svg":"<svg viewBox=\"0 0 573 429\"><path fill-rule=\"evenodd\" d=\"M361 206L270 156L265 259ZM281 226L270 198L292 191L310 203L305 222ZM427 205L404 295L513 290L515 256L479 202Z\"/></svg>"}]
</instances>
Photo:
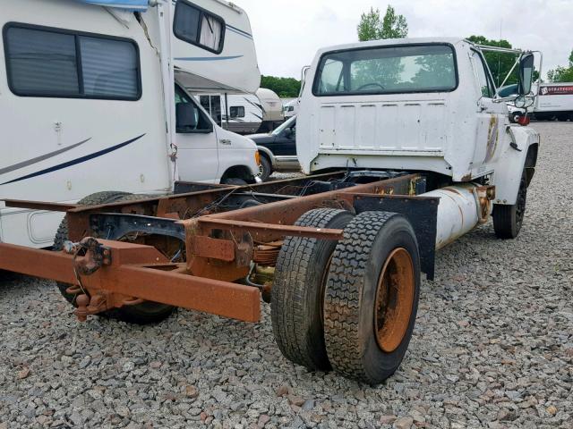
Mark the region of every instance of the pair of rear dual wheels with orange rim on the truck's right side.
<instances>
[{"instance_id":1,"label":"pair of rear dual wheels with orange rim on the truck's right side","mask_svg":"<svg viewBox=\"0 0 573 429\"><path fill-rule=\"evenodd\" d=\"M316 246L325 240L286 240L289 247L281 249L272 291L273 331L291 361L312 370L332 367L348 378L378 384L398 369L414 329L420 290L417 242L410 223L388 212L358 214L344 231L344 240L331 247L329 256L325 250L321 264L312 266L313 275L303 279L294 279L290 269L308 265L310 248L299 251L291 243L314 240ZM313 298L304 299L309 294ZM291 295L298 299L289 300Z\"/></svg>"}]
</instances>

